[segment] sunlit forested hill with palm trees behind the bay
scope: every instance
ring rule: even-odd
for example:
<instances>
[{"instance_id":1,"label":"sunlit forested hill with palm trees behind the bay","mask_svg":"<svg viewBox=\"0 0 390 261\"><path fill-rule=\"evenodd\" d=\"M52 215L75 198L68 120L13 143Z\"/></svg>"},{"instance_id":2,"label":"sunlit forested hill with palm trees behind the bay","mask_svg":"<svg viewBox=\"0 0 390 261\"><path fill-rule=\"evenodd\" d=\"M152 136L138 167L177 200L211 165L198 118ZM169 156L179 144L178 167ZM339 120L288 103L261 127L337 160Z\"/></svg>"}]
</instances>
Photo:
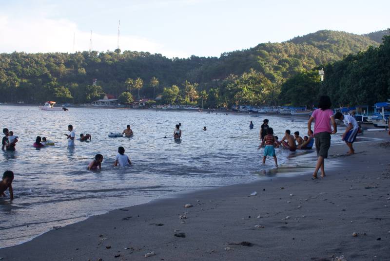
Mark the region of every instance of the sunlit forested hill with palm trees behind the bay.
<instances>
[{"instance_id":1,"label":"sunlit forested hill with palm trees behind the bay","mask_svg":"<svg viewBox=\"0 0 390 261\"><path fill-rule=\"evenodd\" d=\"M169 59L118 49L0 54L0 101L83 103L103 93L118 96L133 91L134 95L134 89L139 89L141 97L162 94L166 103L196 104L202 98L206 106L213 107L271 105L279 103L281 85L293 75L378 45L368 36L323 30L219 58ZM94 78L98 86L92 86Z\"/></svg>"}]
</instances>

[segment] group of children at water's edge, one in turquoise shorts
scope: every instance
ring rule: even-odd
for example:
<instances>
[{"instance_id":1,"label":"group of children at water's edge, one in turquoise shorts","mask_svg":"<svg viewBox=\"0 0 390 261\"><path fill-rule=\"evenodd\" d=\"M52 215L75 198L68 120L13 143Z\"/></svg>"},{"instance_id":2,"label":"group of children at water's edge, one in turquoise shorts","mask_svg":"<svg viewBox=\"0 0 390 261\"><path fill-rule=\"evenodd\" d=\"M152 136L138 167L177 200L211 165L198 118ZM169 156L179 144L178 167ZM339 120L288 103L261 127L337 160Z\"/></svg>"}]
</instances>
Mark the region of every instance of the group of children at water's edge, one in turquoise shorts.
<instances>
[{"instance_id":1,"label":"group of children at water's edge, one in turquoise shorts","mask_svg":"<svg viewBox=\"0 0 390 261\"><path fill-rule=\"evenodd\" d=\"M263 124L260 127L261 144L258 149L264 147L263 164L265 164L267 156L270 156L273 157L275 166L278 167L275 148L279 148L280 146L282 146L284 149L289 149L290 151L295 151L296 149L312 149L314 144L312 130L309 131L309 136L304 136L303 138L299 136L299 131L295 131L294 135L291 135L291 130L286 130L284 137L281 141L279 141L278 136L273 135L273 129L268 126L268 123L269 120L264 119ZM252 121L249 125L249 128L254 128Z\"/></svg>"}]
</instances>

